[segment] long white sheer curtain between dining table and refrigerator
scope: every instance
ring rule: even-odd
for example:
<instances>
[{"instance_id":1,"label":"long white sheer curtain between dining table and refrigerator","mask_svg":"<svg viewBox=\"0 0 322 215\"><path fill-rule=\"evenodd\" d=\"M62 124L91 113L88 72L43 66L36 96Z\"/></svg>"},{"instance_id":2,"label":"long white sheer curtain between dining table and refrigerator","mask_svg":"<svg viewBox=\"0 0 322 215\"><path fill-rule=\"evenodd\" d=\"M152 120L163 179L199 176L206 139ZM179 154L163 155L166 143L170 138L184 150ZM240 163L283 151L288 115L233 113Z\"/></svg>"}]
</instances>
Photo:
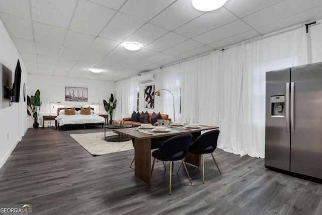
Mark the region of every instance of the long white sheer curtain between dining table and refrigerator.
<instances>
[{"instance_id":1,"label":"long white sheer curtain between dining table and refrigerator","mask_svg":"<svg viewBox=\"0 0 322 215\"><path fill-rule=\"evenodd\" d=\"M218 148L264 158L265 73L306 63L305 28L296 27L177 64L181 121L198 117L199 124L218 125ZM164 86L173 89L174 77L166 72Z\"/></svg>"}]
</instances>

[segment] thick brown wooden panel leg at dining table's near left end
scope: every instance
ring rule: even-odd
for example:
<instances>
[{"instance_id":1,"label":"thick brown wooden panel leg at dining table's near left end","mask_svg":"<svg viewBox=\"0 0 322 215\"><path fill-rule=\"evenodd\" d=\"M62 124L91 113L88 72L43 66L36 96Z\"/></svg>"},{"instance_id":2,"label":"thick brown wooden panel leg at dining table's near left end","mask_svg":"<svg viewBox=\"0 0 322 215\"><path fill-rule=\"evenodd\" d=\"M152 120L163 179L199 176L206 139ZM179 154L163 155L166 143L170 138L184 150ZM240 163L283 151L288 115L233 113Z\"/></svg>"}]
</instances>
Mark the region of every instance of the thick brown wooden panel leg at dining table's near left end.
<instances>
[{"instance_id":1,"label":"thick brown wooden panel leg at dining table's near left end","mask_svg":"<svg viewBox=\"0 0 322 215\"><path fill-rule=\"evenodd\" d=\"M134 140L135 176L151 185L151 139Z\"/></svg>"}]
</instances>

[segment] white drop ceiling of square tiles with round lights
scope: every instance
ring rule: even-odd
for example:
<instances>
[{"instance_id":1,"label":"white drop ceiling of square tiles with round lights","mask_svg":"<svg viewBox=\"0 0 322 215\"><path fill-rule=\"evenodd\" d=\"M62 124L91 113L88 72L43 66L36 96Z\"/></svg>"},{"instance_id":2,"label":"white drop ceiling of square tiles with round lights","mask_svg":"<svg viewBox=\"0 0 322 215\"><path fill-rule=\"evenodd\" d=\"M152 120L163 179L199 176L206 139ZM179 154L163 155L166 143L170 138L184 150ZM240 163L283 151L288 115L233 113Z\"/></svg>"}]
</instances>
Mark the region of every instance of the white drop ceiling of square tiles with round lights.
<instances>
[{"instance_id":1,"label":"white drop ceiling of square tiles with round lights","mask_svg":"<svg viewBox=\"0 0 322 215\"><path fill-rule=\"evenodd\" d=\"M0 0L29 74L105 81L319 20L321 11L321 0L230 0L211 12L191 0Z\"/></svg>"}]
</instances>

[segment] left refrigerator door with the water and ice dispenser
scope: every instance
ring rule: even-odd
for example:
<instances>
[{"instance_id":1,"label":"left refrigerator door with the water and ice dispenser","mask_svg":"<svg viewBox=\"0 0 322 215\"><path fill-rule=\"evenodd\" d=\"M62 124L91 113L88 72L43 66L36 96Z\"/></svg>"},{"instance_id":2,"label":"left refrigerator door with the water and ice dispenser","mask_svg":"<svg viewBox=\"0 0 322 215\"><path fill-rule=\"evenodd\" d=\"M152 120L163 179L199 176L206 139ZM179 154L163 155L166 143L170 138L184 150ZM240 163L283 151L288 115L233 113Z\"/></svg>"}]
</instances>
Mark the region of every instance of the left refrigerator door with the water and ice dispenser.
<instances>
[{"instance_id":1,"label":"left refrigerator door with the water and ice dispenser","mask_svg":"<svg viewBox=\"0 0 322 215\"><path fill-rule=\"evenodd\" d=\"M265 166L290 170L289 83L290 68L266 73ZM272 114L272 97L284 96L285 115ZM276 97L275 97L276 98ZM274 112L274 111L273 111Z\"/></svg>"}]
</instances>

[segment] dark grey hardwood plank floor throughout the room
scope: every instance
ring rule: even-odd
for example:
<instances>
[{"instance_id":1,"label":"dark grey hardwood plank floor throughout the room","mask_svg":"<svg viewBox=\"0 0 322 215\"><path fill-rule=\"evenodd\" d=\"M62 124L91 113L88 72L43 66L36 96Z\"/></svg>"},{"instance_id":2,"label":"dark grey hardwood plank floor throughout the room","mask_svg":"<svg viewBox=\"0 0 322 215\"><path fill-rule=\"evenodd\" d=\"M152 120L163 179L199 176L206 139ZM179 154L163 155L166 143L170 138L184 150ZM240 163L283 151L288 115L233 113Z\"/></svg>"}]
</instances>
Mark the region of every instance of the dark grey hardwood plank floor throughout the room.
<instances>
[{"instance_id":1,"label":"dark grey hardwood plank floor throughout the room","mask_svg":"<svg viewBox=\"0 0 322 215\"><path fill-rule=\"evenodd\" d=\"M169 195L170 162L167 171L156 162L148 186L129 168L134 150L92 156L69 136L102 131L29 128L0 169L0 204L32 204L34 214L322 214L321 184L220 149L221 177L206 155L205 184L188 164L193 186L181 168Z\"/></svg>"}]
</instances>

